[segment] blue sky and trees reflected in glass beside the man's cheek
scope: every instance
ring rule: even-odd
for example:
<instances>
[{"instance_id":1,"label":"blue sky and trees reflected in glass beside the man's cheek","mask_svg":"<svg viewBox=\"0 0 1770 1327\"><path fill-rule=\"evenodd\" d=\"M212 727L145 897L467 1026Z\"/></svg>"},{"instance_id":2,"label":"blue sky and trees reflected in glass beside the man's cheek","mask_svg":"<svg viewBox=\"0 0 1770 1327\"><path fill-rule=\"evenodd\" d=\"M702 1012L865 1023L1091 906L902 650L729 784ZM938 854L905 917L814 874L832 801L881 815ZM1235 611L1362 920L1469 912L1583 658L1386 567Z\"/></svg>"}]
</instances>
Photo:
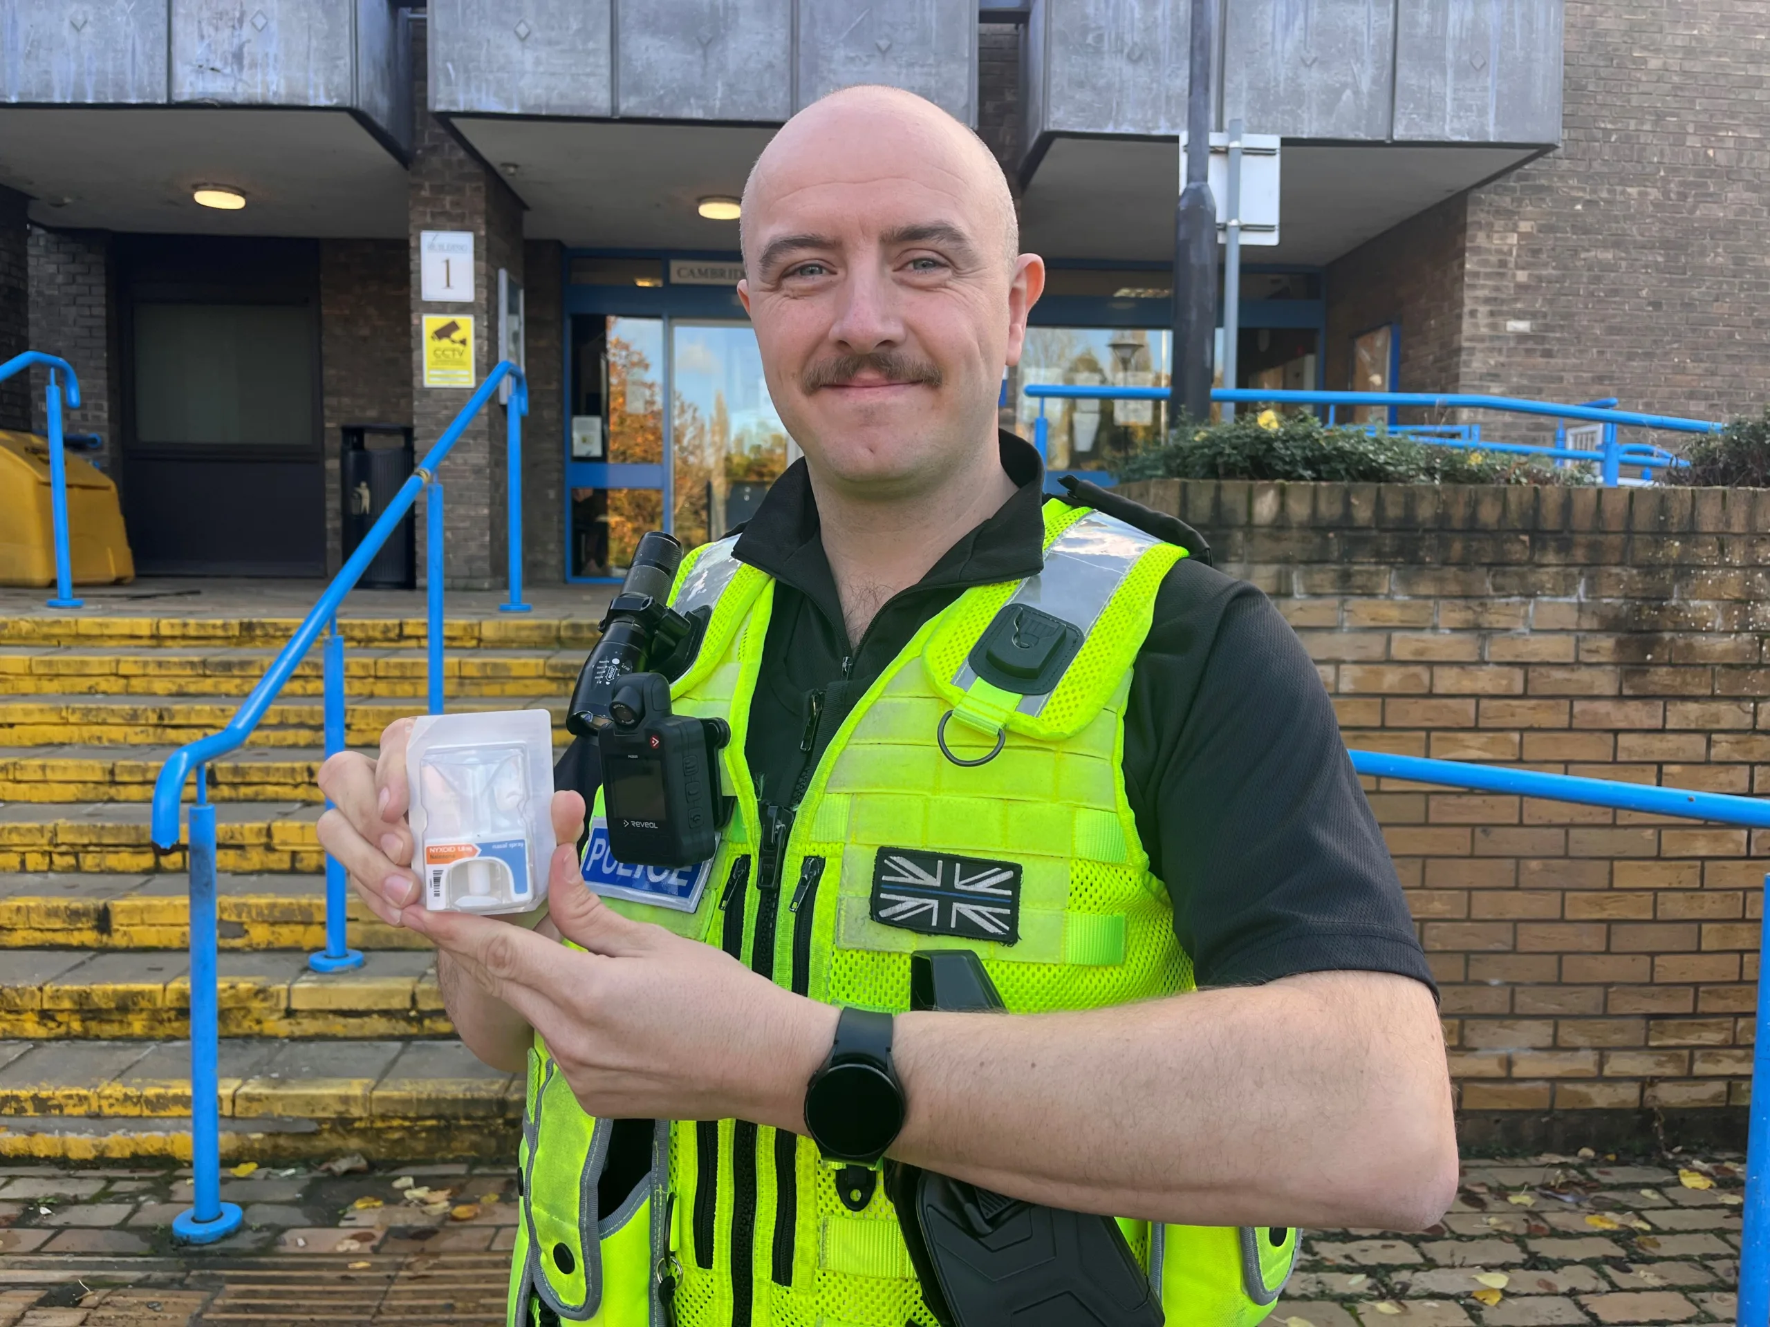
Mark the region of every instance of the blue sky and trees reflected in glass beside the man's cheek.
<instances>
[{"instance_id":1,"label":"blue sky and trees reflected in glass beside the man's cheek","mask_svg":"<svg viewBox=\"0 0 1770 1327\"><path fill-rule=\"evenodd\" d=\"M745 322L671 320L671 517L692 548L756 511L788 465L788 437Z\"/></svg>"}]
</instances>

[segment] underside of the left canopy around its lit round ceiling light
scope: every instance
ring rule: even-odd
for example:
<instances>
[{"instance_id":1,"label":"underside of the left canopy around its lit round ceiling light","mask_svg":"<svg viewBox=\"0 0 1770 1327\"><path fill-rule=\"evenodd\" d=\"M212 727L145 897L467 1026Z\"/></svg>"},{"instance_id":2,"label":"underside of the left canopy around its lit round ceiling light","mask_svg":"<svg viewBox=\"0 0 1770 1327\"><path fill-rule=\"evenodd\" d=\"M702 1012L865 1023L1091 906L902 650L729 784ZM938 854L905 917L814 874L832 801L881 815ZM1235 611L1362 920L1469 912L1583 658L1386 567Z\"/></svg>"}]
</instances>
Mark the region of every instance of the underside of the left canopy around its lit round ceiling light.
<instances>
[{"instance_id":1,"label":"underside of the left canopy around its lit round ceiling light","mask_svg":"<svg viewBox=\"0 0 1770 1327\"><path fill-rule=\"evenodd\" d=\"M405 166L347 110L0 106L0 184L46 226L405 235ZM225 184L246 207L198 207Z\"/></svg>"}]
</instances>

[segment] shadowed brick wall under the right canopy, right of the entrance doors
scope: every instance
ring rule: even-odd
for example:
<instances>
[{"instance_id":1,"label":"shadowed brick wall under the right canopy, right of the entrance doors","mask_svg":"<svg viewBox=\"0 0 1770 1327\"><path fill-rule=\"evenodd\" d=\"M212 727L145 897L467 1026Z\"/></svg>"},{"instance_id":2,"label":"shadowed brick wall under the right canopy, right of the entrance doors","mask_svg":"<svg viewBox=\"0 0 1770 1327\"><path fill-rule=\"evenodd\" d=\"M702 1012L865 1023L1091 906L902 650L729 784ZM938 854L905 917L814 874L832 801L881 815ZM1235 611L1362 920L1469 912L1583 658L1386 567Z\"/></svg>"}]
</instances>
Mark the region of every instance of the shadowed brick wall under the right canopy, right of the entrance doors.
<instances>
[{"instance_id":1,"label":"shadowed brick wall under the right canopy, right of the entrance doors","mask_svg":"<svg viewBox=\"0 0 1770 1327\"><path fill-rule=\"evenodd\" d=\"M1411 216L1328 265L1326 384L1347 391L1352 338L1400 324L1395 391L1455 391L1462 357L1467 196Z\"/></svg>"}]
</instances>

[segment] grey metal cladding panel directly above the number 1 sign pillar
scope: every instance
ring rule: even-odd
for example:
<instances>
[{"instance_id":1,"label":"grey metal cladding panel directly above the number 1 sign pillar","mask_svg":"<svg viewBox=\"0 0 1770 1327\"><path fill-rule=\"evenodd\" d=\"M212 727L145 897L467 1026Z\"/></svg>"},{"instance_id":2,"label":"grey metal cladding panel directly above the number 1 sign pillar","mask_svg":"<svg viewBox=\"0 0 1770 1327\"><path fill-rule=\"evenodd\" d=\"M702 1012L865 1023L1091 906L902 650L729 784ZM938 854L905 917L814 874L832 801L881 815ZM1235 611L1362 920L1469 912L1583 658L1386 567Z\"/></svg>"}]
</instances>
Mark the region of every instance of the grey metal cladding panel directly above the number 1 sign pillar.
<instances>
[{"instance_id":1,"label":"grey metal cladding panel directly above the number 1 sign pillar","mask_svg":"<svg viewBox=\"0 0 1770 1327\"><path fill-rule=\"evenodd\" d=\"M430 0L430 110L614 113L609 0Z\"/></svg>"}]
</instances>

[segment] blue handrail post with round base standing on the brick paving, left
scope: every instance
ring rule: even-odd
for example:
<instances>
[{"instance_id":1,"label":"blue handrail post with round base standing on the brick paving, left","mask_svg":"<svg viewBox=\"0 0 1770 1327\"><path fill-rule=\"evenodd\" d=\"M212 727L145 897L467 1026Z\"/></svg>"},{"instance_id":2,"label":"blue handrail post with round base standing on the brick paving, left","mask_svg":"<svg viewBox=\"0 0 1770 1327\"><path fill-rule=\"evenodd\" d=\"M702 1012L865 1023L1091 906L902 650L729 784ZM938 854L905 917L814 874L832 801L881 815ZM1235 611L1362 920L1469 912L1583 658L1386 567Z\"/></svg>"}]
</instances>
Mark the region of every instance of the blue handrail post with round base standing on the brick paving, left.
<instances>
[{"instance_id":1,"label":"blue handrail post with round base standing on the brick paving, left","mask_svg":"<svg viewBox=\"0 0 1770 1327\"><path fill-rule=\"evenodd\" d=\"M191 1207L172 1219L186 1244L214 1244L239 1230L241 1210L221 1201L219 1014L216 1010L216 809L207 770L196 766L191 807Z\"/></svg>"}]
</instances>

